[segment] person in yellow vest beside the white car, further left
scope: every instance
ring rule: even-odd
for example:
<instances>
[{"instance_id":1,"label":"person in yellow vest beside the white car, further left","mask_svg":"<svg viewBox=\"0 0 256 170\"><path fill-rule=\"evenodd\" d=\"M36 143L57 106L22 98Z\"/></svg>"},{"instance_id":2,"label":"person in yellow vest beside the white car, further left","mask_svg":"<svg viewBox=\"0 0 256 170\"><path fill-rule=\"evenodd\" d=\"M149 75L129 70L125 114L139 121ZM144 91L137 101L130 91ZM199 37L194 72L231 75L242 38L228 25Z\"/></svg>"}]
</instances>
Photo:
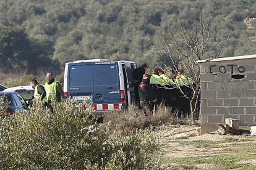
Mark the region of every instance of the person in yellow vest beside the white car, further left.
<instances>
[{"instance_id":1,"label":"person in yellow vest beside the white car, further left","mask_svg":"<svg viewBox=\"0 0 256 170\"><path fill-rule=\"evenodd\" d=\"M46 92L43 84L39 84L36 79L32 79L32 81L30 81L30 86L35 89L34 99L41 99L46 102Z\"/></svg>"}]
</instances>

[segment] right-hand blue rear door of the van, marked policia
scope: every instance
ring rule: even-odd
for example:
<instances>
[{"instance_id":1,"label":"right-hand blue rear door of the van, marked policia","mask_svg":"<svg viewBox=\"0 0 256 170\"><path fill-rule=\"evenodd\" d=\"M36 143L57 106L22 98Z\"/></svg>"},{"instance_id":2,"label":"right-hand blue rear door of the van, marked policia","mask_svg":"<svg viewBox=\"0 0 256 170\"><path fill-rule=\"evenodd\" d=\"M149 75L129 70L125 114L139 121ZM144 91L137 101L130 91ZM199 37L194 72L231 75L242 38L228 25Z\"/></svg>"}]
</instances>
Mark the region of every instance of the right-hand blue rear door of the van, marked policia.
<instances>
[{"instance_id":1,"label":"right-hand blue rear door of the van, marked policia","mask_svg":"<svg viewBox=\"0 0 256 170\"><path fill-rule=\"evenodd\" d=\"M117 62L95 62L93 65L93 102L121 103Z\"/></svg>"}]
</instances>

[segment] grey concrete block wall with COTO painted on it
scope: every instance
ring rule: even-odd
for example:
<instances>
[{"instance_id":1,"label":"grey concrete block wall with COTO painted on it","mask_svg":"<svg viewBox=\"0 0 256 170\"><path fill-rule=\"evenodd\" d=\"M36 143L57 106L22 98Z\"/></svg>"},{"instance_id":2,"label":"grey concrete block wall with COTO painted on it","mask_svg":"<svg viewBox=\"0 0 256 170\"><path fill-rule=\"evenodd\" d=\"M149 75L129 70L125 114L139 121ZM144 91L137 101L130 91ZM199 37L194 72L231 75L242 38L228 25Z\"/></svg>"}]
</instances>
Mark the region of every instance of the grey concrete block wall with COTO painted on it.
<instances>
[{"instance_id":1,"label":"grey concrete block wall with COTO painted on it","mask_svg":"<svg viewBox=\"0 0 256 170\"><path fill-rule=\"evenodd\" d=\"M256 125L256 59L206 62L201 65L202 134L218 129L226 118ZM235 79L234 75L244 76Z\"/></svg>"}]
</instances>

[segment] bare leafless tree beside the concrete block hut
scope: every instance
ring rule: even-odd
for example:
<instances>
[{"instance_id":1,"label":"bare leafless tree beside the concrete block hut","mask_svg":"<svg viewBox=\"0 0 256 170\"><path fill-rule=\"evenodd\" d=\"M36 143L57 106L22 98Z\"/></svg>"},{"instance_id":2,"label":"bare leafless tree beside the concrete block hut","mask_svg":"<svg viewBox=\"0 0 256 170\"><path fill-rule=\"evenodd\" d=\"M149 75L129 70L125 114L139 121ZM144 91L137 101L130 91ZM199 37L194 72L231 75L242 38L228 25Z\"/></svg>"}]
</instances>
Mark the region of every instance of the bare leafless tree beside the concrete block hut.
<instances>
[{"instance_id":1,"label":"bare leafless tree beside the concrete block hut","mask_svg":"<svg viewBox=\"0 0 256 170\"><path fill-rule=\"evenodd\" d=\"M174 70L183 69L187 77L192 78L193 83L186 86L192 89L193 95L186 95L179 84L176 87L179 91L190 100L190 112L192 120L200 108L200 66L195 64L197 60L218 58L224 54L226 43L229 35L223 36L219 42L215 42L211 37L210 20L200 18L195 20L194 25L179 23L179 31L174 34L171 30L161 33L163 49L160 50L155 46L157 54L160 56L161 65L166 68L173 67ZM164 55L168 54L171 66L166 64Z\"/></svg>"}]
</instances>

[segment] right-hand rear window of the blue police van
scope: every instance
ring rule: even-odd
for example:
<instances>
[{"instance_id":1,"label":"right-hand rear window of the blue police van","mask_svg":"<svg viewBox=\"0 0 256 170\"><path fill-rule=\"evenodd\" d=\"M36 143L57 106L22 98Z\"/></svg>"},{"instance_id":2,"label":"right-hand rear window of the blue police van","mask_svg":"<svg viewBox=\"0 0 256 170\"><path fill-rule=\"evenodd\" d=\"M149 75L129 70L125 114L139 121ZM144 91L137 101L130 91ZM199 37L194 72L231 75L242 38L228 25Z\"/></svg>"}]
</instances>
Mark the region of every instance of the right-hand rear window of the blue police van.
<instances>
[{"instance_id":1,"label":"right-hand rear window of the blue police van","mask_svg":"<svg viewBox=\"0 0 256 170\"><path fill-rule=\"evenodd\" d=\"M94 86L118 85L117 63L93 66Z\"/></svg>"}]
</instances>

